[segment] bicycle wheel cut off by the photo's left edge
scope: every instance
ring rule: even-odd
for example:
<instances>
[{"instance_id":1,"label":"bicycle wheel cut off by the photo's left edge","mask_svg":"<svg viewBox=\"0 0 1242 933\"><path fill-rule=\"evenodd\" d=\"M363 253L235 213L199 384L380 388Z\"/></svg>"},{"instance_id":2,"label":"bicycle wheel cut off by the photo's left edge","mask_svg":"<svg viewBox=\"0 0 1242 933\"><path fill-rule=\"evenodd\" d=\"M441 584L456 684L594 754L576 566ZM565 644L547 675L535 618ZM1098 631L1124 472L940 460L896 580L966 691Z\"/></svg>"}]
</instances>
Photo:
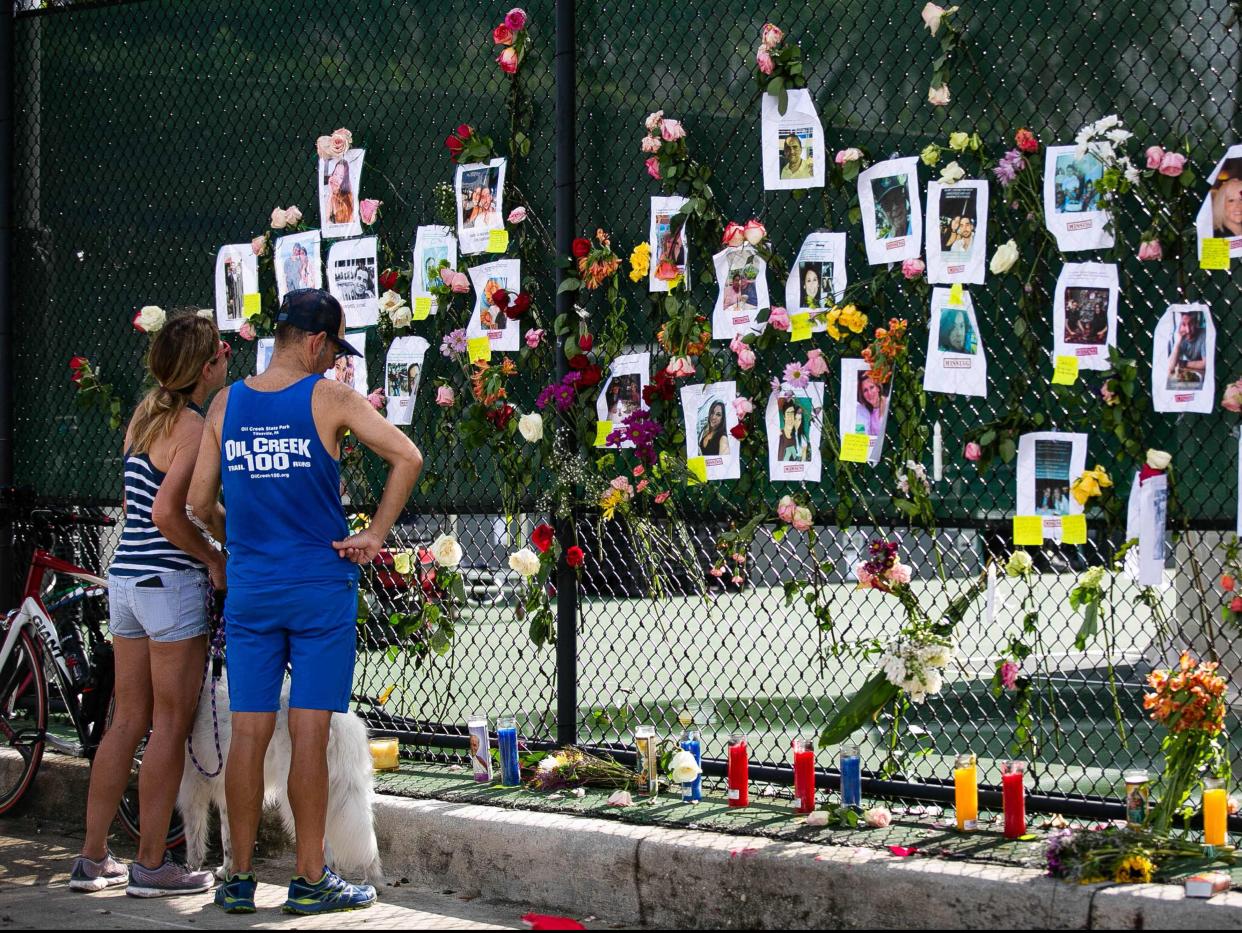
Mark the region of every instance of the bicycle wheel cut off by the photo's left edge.
<instances>
[{"instance_id":1,"label":"bicycle wheel cut off by the photo's left edge","mask_svg":"<svg viewBox=\"0 0 1242 933\"><path fill-rule=\"evenodd\" d=\"M0 667L0 814L12 809L43 760L47 730L47 680L40 650L24 630Z\"/></svg>"}]
</instances>

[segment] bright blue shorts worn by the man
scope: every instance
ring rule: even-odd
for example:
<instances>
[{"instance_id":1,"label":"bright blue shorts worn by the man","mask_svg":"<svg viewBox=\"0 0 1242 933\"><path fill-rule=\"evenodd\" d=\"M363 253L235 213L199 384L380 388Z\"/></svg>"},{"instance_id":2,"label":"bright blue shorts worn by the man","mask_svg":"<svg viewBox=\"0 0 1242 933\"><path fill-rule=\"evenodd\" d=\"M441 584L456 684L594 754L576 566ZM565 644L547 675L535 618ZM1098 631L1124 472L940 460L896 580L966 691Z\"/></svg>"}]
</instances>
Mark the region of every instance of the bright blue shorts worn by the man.
<instances>
[{"instance_id":1,"label":"bright blue shorts worn by the man","mask_svg":"<svg viewBox=\"0 0 1242 933\"><path fill-rule=\"evenodd\" d=\"M229 588L225 652L235 713L278 712L286 663L291 707L347 712L356 650L354 580Z\"/></svg>"}]
</instances>

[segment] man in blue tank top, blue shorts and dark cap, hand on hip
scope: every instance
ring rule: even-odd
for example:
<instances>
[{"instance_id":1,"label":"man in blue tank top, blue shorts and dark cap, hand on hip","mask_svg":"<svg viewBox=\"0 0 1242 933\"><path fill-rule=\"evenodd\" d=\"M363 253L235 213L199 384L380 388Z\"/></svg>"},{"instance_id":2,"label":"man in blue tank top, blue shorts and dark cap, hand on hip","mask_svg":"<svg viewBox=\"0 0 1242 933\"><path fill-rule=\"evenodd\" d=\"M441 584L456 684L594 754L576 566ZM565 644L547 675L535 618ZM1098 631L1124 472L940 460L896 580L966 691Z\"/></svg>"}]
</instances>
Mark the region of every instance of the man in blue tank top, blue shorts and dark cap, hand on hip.
<instances>
[{"instance_id":1,"label":"man in blue tank top, blue shorts and dark cap, hand on hip","mask_svg":"<svg viewBox=\"0 0 1242 933\"><path fill-rule=\"evenodd\" d=\"M281 304L276 349L262 374L211 403L190 487L194 513L229 549L229 703L225 771L232 872L216 891L230 912L255 909L251 856L263 804L263 755L291 667L289 804L298 876L287 912L366 907L370 886L324 865L328 726L349 708L358 639L358 564L379 553L422 468L422 456L366 398L320 374L342 355L345 317L327 292L303 288ZM351 431L389 465L370 526L349 534L340 504L340 440ZM225 507L217 499L224 488Z\"/></svg>"}]
</instances>

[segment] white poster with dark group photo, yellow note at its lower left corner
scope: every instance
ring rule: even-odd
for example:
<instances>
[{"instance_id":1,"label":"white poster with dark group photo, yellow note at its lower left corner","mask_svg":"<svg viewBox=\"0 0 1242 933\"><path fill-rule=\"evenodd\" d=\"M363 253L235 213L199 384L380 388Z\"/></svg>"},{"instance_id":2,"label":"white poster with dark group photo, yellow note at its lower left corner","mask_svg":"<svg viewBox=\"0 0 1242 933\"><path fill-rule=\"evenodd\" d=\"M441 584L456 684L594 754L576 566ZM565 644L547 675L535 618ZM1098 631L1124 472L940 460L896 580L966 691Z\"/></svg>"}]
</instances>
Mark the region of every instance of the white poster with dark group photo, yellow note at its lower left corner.
<instances>
[{"instance_id":1,"label":"white poster with dark group photo, yellow note at its lower left corner","mask_svg":"<svg viewBox=\"0 0 1242 933\"><path fill-rule=\"evenodd\" d=\"M1077 357L1079 369L1108 369L1108 348L1117 345L1118 291L1112 262L1067 262L1052 303L1052 353Z\"/></svg>"}]
</instances>

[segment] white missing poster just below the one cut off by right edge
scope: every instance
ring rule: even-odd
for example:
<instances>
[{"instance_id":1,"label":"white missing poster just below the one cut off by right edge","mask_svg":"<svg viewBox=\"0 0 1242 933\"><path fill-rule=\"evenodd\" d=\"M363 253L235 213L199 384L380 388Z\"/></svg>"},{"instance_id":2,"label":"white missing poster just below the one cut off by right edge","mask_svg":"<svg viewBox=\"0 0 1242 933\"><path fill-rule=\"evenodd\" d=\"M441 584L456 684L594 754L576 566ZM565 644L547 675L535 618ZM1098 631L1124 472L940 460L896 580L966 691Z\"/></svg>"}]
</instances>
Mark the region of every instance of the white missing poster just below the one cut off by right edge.
<instances>
[{"instance_id":1,"label":"white missing poster just below the one cut off by right edge","mask_svg":"<svg viewBox=\"0 0 1242 933\"><path fill-rule=\"evenodd\" d=\"M1216 327L1206 304L1170 304L1151 344L1156 411L1211 414L1216 404Z\"/></svg>"}]
</instances>

